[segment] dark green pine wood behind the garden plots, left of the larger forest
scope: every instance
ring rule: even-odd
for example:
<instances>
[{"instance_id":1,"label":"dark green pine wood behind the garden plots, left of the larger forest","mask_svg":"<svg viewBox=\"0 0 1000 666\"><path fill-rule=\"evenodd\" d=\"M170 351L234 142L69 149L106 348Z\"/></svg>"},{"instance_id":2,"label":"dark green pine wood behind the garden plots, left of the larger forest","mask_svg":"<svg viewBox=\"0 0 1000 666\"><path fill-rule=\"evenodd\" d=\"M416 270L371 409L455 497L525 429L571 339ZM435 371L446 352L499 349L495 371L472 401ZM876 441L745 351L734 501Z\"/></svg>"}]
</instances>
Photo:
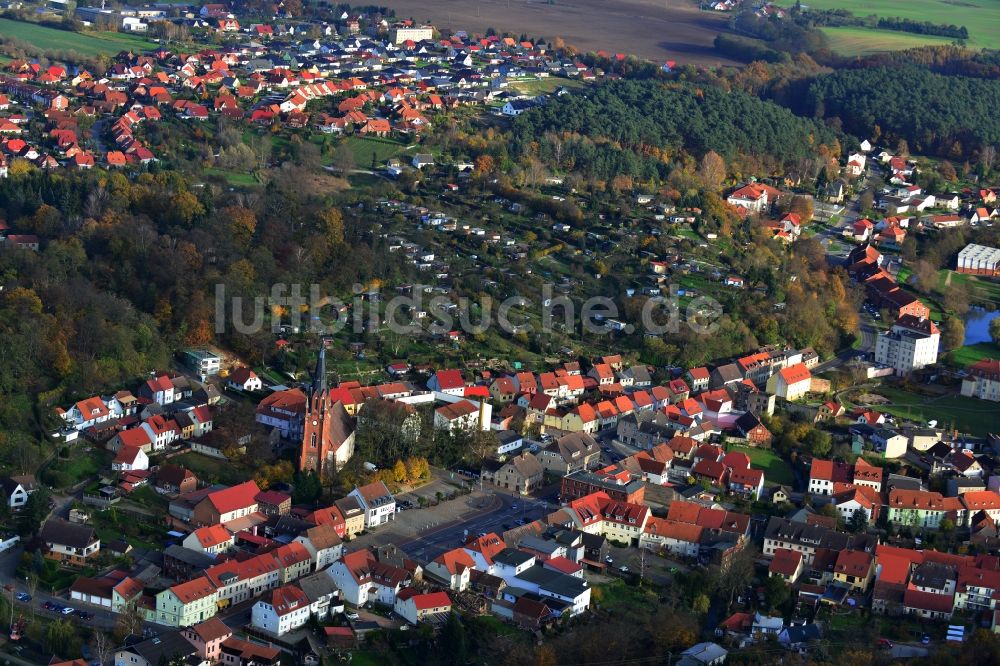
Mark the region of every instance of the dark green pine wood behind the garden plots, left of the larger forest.
<instances>
[{"instance_id":1,"label":"dark green pine wood behind the garden plots, left of the larger forest","mask_svg":"<svg viewBox=\"0 0 1000 666\"><path fill-rule=\"evenodd\" d=\"M511 134L515 156L537 148L542 161L566 171L639 180L662 180L682 154L769 156L782 164L838 141L824 125L751 95L638 81L557 97L518 117Z\"/></svg>"}]
</instances>

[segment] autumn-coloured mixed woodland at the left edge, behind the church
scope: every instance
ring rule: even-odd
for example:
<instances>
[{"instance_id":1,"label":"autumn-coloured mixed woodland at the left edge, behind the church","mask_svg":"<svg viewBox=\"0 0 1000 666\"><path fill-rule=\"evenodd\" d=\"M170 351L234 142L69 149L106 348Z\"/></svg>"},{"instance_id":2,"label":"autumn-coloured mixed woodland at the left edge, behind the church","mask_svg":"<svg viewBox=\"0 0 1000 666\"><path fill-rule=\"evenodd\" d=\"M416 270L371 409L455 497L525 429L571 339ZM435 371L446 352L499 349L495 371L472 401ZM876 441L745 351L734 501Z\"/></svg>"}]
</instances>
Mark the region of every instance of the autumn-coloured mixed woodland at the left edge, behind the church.
<instances>
[{"instance_id":1,"label":"autumn-coloured mixed woodland at the left edge, behind the church","mask_svg":"<svg viewBox=\"0 0 1000 666\"><path fill-rule=\"evenodd\" d=\"M261 192L228 192L178 171L18 169L0 180L0 219L47 239L0 252L0 460L31 469L57 405L129 386L169 367L171 352L219 342L250 362L273 348L265 327L212 327L215 286L232 295L273 283L328 292L392 275L359 218L310 189L299 167Z\"/></svg>"}]
</instances>

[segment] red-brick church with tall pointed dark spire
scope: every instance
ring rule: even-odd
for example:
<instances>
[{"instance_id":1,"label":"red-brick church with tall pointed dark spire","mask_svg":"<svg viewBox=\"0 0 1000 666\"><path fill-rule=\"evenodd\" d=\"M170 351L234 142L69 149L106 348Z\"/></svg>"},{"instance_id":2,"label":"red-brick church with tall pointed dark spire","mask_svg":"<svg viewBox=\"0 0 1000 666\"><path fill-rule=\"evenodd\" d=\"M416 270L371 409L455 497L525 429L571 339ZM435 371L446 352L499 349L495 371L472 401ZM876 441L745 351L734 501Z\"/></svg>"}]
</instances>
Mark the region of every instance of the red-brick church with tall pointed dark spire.
<instances>
[{"instance_id":1,"label":"red-brick church with tall pointed dark spire","mask_svg":"<svg viewBox=\"0 0 1000 666\"><path fill-rule=\"evenodd\" d=\"M307 396L299 448L299 469L322 476L339 470L354 454L354 419L344 403L330 399L326 385L326 344L322 343ZM332 469L331 469L332 468Z\"/></svg>"}]
</instances>

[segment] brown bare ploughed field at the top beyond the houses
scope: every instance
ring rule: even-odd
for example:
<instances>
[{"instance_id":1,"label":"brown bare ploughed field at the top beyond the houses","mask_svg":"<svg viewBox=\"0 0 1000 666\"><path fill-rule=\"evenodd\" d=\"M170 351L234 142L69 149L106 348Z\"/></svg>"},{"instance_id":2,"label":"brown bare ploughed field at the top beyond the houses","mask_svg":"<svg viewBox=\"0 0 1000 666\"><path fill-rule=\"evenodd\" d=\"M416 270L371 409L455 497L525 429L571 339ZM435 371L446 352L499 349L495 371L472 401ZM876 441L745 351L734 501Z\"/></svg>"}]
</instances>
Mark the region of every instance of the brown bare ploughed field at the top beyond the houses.
<instances>
[{"instance_id":1,"label":"brown bare ploughed field at the top beyond the houses","mask_svg":"<svg viewBox=\"0 0 1000 666\"><path fill-rule=\"evenodd\" d=\"M561 37L581 51L606 49L657 62L739 64L715 52L728 15L690 0L385 0L400 18L438 28Z\"/></svg>"}]
</instances>

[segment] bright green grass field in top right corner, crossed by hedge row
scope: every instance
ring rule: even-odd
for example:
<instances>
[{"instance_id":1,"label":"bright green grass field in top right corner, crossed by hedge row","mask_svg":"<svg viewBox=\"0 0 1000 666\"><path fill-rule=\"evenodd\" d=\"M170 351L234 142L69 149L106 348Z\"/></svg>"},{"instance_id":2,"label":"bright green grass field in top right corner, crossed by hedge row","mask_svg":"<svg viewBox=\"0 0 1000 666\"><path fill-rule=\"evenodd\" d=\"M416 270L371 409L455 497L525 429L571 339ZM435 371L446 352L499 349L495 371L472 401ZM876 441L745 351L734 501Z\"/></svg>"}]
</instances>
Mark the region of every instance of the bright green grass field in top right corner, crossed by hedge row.
<instances>
[{"instance_id":1,"label":"bright green grass field in top right corner, crossed by hedge row","mask_svg":"<svg viewBox=\"0 0 1000 666\"><path fill-rule=\"evenodd\" d=\"M1000 48L1000 3L996 0L810 0L815 9L846 9L855 16L898 17L930 21L944 25L965 26L968 45L974 48ZM867 28L825 28L831 47L845 54L872 53L935 43L949 38L916 35ZM909 42L909 43L907 43ZM879 45L882 44L881 48ZM848 49L853 48L854 51Z\"/></svg>"}]
</instances>

